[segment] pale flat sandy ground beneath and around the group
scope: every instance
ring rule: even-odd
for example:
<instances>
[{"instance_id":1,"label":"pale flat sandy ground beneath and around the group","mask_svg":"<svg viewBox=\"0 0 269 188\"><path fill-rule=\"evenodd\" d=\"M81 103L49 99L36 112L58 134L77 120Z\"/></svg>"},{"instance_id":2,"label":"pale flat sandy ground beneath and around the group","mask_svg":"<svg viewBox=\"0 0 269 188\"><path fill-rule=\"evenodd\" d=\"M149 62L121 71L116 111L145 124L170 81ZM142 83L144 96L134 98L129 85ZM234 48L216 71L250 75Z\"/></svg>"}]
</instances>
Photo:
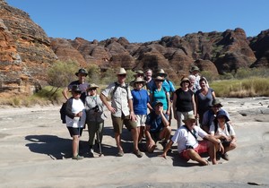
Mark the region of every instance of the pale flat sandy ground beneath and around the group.
<instances>
[{"instance_id":1,"label":"pale flat sandy ground beneath and around the group","mask_svg":"<svg viewBox=\"0 0 269 188\"><path fill-rule=\"evenodd\" d=\"M143 158L132 154L130 132L124 130L125 156L117 148L111 120L105 122L103 157L89 158L85 130L82 160L71 158L71 138L59 108L0 108L0 187L269 187L269 98L221 98L238 136L230 161L199 167L168 159L161 146ZM176 122L172 123L173 132ZM207 158L206 156L204 158Z\"/></svg>"}]
</instances>

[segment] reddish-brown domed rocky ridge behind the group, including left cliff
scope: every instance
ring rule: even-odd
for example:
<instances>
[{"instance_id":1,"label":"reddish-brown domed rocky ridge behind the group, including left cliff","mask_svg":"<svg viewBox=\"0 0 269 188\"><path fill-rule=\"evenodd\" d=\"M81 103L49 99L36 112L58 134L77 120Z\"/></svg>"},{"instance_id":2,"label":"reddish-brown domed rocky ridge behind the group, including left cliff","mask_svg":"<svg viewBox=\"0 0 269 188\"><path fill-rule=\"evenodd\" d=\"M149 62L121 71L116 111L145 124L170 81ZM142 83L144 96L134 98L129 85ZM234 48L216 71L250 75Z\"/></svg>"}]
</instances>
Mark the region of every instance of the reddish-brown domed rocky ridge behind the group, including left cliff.
<instances>
[{"instance_id":1,"label":"reddish-brown domed rocky ridge behind the group, including left cliff","mask_svg":"<svg viewBox=\"0 0 269 188\"><path fill-rule=\"evenodd\" d=\"M46 85L47 68L58 60L74 60L82 67L97 64L101 71L123 66L137 70L163 68L171 80L187 74L191 65L213 73L239 67L269 67L269 30L247 38L242 29L163 37L145 43L126 38L88 41L48 38L23 12L0 0L0 95L32 93Z\"/></svg>"}]
</instances>

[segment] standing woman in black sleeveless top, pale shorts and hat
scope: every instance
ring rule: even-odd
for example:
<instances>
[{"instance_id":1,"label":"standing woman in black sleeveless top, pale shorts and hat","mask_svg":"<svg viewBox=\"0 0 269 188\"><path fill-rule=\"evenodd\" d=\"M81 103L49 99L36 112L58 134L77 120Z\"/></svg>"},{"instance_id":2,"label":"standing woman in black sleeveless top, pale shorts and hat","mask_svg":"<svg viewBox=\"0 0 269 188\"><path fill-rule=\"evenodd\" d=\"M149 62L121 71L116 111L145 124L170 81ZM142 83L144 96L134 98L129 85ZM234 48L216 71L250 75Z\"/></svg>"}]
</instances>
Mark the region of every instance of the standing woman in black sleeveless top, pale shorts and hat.
<instances>
[{"instance_id":1,"label":"standing woman in black sleeveless top, pale shorts and hat","mask_svg":"<svg viewBox=\"0 0 269 188\"><path fill-rule=\"evenodd\" d=\"M183 77L180 81L181 88L174 93L173 112L178 122L178 128L183 125L183 120L186 119L187 115L196 114L195 95L189 89L189 85L190 81L188 78Z\"/></svg>"}]
</instances>

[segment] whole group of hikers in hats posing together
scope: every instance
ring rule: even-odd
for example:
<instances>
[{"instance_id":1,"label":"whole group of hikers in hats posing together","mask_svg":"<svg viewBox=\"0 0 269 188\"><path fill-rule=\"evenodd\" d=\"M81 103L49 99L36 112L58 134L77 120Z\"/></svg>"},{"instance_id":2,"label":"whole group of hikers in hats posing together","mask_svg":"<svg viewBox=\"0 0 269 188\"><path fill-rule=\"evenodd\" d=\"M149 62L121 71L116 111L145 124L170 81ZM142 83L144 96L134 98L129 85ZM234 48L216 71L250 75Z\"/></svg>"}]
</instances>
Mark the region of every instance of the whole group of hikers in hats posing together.
<instances>
[{"instance_id":1,"label":"whole group of hikers in hats posing together","mask_svg":"<svg viewBox=\"0 0 269 188\"><path fill-rule=\"evenodd\" d=\"M166 158L173 143L178 144L178 154L186 160L193 159L200 165L208 161L200 154L208 152L213 164L219 158L229 160L227 152L236 148L236 136L229 124L230 115L221 109L221 102L199 68L193 66L189 76L184 76L176 90L168 74L162 69L152 73L138 70L134 81L126 83L126 70L117 70L117 81L111 82L100 95L98 85L85 81L87 71L80 69L75 75L78 81L71 82L63 95L66 102L66 126L73 137L73 158L79 155L79 137L84 125L88 125L90 151L93 155L95 141L101 143L104 120L104 107L111 113L117 156L125 152L121 145L121 133L126 125L133 138L133 152L143 157L141 150L153 152L160 141L162 157ZM68 90L72 97L68 98ZM110 100L110 101L109 101ZM172 136L171 119L178 123L178 130ZM97 139L95 139L95 134ZM198 136L202 140L198 139ZM144 141L145 140L145 141Z\"/></svg>"}]
</instances>

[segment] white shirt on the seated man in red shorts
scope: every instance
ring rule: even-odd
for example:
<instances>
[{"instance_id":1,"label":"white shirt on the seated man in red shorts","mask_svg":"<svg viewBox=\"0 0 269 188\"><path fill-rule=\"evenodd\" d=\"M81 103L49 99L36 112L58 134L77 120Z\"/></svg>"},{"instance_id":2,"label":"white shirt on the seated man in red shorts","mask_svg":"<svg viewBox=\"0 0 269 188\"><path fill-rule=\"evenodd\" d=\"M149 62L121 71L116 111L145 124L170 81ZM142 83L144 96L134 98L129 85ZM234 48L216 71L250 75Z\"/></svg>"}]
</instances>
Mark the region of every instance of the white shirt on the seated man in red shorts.
<instances>
[{"instance_id":1,"label":"white shirt on the seated man in red shorts","mask_svg":"<svg viewBox=\"0 0 269 188\"><path fill-rule=\"evenodd\" d=\"M208 135L199 126L195 125L194 130L196 138L198 138L198 135L201 138L204 138L204 136ZM180 126L171 140L174 143L178 143L178 153L181 153L183 150L186 150L187 146L192 146L194 149L198 146L198 141L195 139L194 135L191 132L187 131L187 128L185 126Z\"/></svg>"}]
</instances>

